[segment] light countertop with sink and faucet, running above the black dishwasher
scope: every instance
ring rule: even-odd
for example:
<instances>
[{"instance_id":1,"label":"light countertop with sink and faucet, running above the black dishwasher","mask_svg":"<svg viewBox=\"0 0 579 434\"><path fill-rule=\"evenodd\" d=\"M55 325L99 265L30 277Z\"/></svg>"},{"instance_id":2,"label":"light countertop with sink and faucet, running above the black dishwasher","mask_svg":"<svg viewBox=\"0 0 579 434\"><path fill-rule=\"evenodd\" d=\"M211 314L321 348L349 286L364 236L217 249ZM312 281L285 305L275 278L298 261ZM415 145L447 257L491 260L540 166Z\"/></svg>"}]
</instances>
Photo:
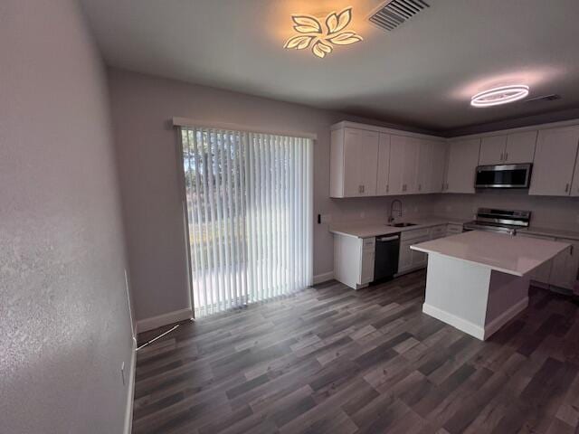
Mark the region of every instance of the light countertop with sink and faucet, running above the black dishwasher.
<instances>
[{"instance_id":1,"label":"light countertop with sink and faucet, running above the black dishwasher","mask_svg":"<svg viewBox=\"0 0 579 434\"><path fill-rule=\"evenodd\" d=\"M406 228L394 228L384 222L350 222L337 223L330 226L329 231L340 235L347 235L356 238L369 238L378 235L388 235L390 233L400 233L403 231L414 231L416 229L431 228L441 224L463 224L465 220L448 219L443 217L428 217L420 219L402 219L403 222L416 223L415 226Z\"/></svg>"}]
</instances>

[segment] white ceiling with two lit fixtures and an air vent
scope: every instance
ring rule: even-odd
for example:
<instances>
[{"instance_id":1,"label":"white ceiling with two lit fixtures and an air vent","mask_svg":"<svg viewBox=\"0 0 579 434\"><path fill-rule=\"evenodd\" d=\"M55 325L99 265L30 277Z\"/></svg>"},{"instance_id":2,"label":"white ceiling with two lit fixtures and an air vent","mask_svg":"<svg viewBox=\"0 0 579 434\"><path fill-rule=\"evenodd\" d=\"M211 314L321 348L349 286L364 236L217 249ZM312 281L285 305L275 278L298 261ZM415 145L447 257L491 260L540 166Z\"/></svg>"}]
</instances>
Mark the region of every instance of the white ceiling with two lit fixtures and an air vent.
<instances>
[{"instance_id":1,"label":"white ceiling with two lit fixtures and an air vent","mask_svg":"<svg viewBox=\"0 0 579 434\"><path fill-rule=\"evenodd\" d=\"M578 0L427 0L393 32L366 18L378 0L81 0L115 67L431 130L579 107ZM320 60L288 51L290 14L353 6L363 42ZM551 102L470 108L524 83Z\"/></svg>"}]
</instances>

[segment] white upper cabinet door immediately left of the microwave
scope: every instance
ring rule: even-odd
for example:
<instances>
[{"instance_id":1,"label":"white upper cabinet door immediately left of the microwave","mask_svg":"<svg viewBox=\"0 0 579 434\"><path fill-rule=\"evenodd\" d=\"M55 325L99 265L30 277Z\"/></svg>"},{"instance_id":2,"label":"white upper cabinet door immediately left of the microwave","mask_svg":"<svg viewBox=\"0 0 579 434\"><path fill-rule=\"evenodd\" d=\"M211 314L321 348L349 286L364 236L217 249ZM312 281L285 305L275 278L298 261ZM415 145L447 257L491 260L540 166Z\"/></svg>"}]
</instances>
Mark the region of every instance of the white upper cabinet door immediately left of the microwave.
<instances>
[{"instance_id":1,"label":"white upper cabinet door immediately left of the microwave","mask_svg":"<svg viewBox=\"0 0 579 434\"><path fill-rule=\"evenodd\" d=\"M444 193L474 193L479 147L479 138L451 142Z\"/></svg>"}]
</instances>

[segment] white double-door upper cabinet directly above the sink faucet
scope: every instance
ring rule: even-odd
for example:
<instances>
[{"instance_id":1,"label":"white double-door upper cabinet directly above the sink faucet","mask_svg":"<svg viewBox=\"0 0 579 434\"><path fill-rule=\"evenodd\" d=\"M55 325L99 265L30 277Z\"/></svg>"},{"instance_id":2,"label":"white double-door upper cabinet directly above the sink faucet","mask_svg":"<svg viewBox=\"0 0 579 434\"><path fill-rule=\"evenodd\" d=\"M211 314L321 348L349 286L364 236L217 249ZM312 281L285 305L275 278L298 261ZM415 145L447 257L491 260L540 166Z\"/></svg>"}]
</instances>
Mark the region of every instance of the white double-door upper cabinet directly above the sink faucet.
<instances>
[{"instance_id":1,"label":"white double-door upper cabinet directly above the sink faucet","mask_svg":"<svg viewBox=\"0 0 579 434\"><path fill-rule=\"evenodd\" d=\"M418 193L419 146L413 137L390 137L389 194Z\"/></svg>"}]
</instances>

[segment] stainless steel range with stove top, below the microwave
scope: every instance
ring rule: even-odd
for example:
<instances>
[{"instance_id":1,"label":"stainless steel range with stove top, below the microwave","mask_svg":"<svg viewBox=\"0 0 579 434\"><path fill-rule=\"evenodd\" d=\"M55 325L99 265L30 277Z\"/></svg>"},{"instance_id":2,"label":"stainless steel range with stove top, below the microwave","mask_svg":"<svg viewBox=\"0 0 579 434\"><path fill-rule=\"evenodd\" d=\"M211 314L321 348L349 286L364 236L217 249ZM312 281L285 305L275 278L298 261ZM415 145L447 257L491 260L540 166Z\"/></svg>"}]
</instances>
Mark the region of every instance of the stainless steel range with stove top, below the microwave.
<instances>
[{"instance_id":1,"label":"stainless steel range with stove top, below the microwave","mask_svg":"<svg viewBox=\"0 0 579 434\"><path fill-rule=\"evenodd\" d=\"M477 220L464 223L464 230L490 231L515 235L517 229L527 228L530 220L530 211L479 208L479 211L477 212Z\"/></svg>"}]
</instances>

